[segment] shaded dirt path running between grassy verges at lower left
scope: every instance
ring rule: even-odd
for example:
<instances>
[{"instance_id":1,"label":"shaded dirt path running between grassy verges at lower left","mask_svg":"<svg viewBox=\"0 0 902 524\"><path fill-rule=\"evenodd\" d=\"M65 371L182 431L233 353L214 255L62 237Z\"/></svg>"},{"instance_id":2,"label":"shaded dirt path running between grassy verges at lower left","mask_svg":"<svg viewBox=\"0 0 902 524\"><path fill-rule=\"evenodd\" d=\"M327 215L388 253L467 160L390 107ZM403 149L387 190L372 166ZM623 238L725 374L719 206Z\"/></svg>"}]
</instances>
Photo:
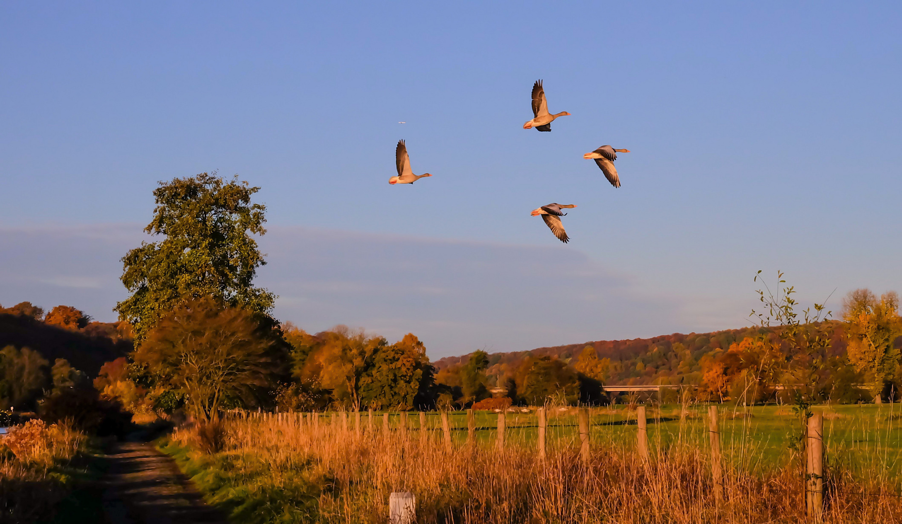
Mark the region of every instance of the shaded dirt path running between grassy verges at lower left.
<instances>
[{"instance_id":1,"label":"shaded dirt path running between grassy verges at lower left","mask_svg":"<svg viewBox=\"0 0 902 524\"><path fill-rule=\"evenodd\" d=\"M109 524L225 524L175 462L151 444L124 442L106 455L104 511Z\"/></svg>"}]
</instances>

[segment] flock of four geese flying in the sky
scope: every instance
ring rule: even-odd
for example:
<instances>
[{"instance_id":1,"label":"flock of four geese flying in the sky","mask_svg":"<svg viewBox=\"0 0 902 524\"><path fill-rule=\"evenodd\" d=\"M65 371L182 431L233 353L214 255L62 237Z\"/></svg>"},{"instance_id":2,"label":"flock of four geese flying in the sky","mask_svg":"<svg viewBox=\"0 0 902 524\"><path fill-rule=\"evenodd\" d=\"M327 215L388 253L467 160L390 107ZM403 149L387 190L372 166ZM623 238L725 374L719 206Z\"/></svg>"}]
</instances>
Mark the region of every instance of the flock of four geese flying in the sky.
<instances>
[{"instance_id":1,"label":"flock of four geese flying in the sky","mask_svg":"<svg viewBox=\"0 0 902 524\"><path fill-rule=\"evenodd\" d=\"M566 111L561 111L554 115L548 113L548 99L545 97L545 89L542 87L542 81L537 80L532 86L533 118L526 124L523 124L523 129L537 129L538 131L550 132L551 123L554 122L558 116L569 115L570 114ZM594 152L585 153L583 158L594 160L604 173L604 177L611 182L611 185L614 188L620 188L620 176L617 175L617 169L614 168L614 161L617 160L617 153L619 152L630 152L630 150L614 149L610 145L603 145ZM398 176L389 179L391 185L412 184L419 179L432 176L429 173L423 173L422 175L413 174L413 170L410 170L410 155L407 154L407 145L404 144L403 140L398 141L398 146L395 148L395 164L395 167L398 169ZM541 216L542 220L545 221L545 224L548 225L548 229L551 230L551 233L555 234L558 240L566 244L570 241L570 237L566 235L564 225L561 224L560 217L566 216L566 213L561 212L561 209L573 207L576 207L576 205L552 203L548 204L548 206L533 209L532 216Z\"/></svg>"}]
</instances>

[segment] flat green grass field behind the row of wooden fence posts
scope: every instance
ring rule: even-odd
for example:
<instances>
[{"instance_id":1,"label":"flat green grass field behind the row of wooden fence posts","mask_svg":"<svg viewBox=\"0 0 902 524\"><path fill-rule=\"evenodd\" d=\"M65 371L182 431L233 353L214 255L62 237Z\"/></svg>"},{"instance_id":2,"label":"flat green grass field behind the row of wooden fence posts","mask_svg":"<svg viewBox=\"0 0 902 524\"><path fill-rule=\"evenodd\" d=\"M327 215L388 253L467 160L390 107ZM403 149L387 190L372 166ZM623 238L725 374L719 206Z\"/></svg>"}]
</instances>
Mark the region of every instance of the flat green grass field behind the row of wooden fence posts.
<instances>
[{"instance_id":1,"label":"flat green grass field behind the row of wooden fence posts","mask_svg":"<svg viewBox=\"0 0 902 524\"><path fill-rule=\"evenodd\" d=\"M707 446L707 405L690 406L689 415L680 420L679 405L648 409L649 446L652 453L667 453L679 444ZM851 471L900 473L902 465L902 407L884 405L815 406L824 413L824 444L828 461ZM724 455L733 467L748 469L773 468L794 460L793 443L802 432L802 422L787 406L736 407L719 406L721 440ZM367 414L363 413L367 424ZM373 424L382 427L382 413L376 413ZM491 444L497 437L495 413L476 412L476 439ZM636 414L625 406L615 409L591 409L590 439L593 444L634 446ZM452 438L462 444L467 436L466 413L450 414ZM390 414L391 427L400 425L400 415ZM427 414L427 426L440 430L437 412ZM419 428L417 413L408 415L408 427ZM536 446L538 417L535 411L506 414L505 442L508 446ZM551 410L548 416L549 447L575 446L578 439L575 409Z\"/></svg>"}]
</instances>

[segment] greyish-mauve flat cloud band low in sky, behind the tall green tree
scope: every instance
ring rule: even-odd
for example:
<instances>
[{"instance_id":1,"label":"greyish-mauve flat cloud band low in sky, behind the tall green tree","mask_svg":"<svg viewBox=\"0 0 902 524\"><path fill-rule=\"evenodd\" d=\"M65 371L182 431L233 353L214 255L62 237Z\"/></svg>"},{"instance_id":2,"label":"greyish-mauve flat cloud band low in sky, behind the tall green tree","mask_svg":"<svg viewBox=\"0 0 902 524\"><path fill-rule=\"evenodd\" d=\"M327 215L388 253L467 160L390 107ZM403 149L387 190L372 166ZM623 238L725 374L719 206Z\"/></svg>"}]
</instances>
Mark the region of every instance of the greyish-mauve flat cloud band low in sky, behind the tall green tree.
<instances>
[{"instance_id":1,"label":"greyish-mauve flat cloud band low in sky, behind the tall green tree","mask_svg":"<svg viewBox=\"0 0 902 524\"><path fill-rule=\"evenodd\" d=\"M140 225L0 229L0 303L67 304L100 320L126 292L124 253ZM494 351L676 330L676 305L567 247L536 247L272 226L258 285L276 317L308 331L336 324L390 339L413 332L430 355Z\"/></svg>"}]
</instances>

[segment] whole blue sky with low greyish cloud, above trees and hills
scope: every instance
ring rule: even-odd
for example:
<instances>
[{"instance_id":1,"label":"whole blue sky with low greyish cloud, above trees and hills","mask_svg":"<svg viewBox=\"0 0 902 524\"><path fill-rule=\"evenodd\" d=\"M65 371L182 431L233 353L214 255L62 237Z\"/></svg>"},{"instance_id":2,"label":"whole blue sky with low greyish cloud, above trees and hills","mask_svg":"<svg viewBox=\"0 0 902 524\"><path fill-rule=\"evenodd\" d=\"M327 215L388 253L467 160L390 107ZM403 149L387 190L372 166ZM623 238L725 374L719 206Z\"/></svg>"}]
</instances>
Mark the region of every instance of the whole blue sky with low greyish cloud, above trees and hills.
<instances>
[{"instance_id":1,"label":"whole blue sky with low greyish cloud, above trees and hills","mask_svg":"<svg viewBox=\"0 0 902 524\"><path fill-rule=\"evenodd\" d=\"M834 308L899 290L900 19L891 3L6 3L0 303L112 319L156 182L208 170L262 187L277 317L412 331L434 356L742 326L759 269L805 300L835 289ZM573 114L552 133L521 128L537 78ZM387 183L400 138L433 178ZM605 143L631 151L620 189L582 158ZM566 246L529 216L548 202L579 205Z\"/></svg>"}]
</instances>

